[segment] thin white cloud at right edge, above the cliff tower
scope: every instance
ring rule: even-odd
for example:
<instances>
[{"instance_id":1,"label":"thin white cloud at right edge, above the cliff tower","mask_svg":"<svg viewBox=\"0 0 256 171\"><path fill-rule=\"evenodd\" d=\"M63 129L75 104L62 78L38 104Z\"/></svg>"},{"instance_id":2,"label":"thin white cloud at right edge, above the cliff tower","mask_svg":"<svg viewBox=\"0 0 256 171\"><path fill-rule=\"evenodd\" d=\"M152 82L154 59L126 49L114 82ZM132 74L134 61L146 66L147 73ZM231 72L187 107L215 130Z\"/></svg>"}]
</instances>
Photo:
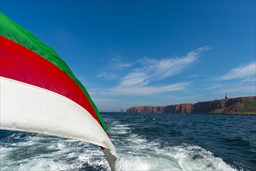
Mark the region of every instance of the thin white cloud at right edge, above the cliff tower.
<instances>
[{"instance_id":1,"label":"thin white cloud at right edge, above the cliff tower","mask_svg":"<svg viewBox=\"0 0 256 171\"><path fill-rule=\"evenodd\" d=\"M255 78L256 75L256 63L233 68L226 75L222 75L217 80L231 80L231 79L248 79L250 77Z\"/></svg>"}]
</instances>

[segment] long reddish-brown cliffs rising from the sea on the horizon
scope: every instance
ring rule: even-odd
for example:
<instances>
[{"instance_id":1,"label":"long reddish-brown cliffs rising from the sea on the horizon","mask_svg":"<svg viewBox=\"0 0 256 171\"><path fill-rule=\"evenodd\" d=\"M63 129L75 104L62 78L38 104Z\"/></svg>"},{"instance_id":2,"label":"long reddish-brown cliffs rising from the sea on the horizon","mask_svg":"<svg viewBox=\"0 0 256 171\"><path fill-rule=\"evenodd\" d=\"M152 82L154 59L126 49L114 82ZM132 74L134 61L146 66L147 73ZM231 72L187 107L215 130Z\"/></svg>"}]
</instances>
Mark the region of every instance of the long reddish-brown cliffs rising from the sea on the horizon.
<instances>
[{"instance_id":1,"label":"long reddish-brown cliffs rising from the sea on the horizon","mask_svg":"<svg viewBox=\"0 0 256 171\"><path fill-rule=\"evenodd\" d=\"M134 113L256 113L256 96L215 99L194 104L133 106L126 111Z\"/></svg>"}]
</instances>

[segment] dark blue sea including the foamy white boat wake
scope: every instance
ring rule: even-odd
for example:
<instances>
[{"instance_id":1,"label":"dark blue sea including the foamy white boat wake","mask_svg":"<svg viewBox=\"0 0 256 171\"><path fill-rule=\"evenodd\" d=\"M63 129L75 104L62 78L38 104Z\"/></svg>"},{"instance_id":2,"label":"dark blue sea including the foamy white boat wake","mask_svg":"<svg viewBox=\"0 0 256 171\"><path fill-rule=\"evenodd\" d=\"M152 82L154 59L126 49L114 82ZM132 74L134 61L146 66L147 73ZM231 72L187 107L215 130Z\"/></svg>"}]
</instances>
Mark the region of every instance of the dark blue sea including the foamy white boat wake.
<instances>
[{"instance_id":1,"label":"dark blue sea including the foamy white boat wake","mask_svg":"<svg viewBox=\"0 0 256 171\"><path fill-rule=\"evenodd\" d=\"M256 116L101 113L117 170L256 170ZM1 170L110 170L96 145L0 131Z\"/></svg>"}]
</instances>

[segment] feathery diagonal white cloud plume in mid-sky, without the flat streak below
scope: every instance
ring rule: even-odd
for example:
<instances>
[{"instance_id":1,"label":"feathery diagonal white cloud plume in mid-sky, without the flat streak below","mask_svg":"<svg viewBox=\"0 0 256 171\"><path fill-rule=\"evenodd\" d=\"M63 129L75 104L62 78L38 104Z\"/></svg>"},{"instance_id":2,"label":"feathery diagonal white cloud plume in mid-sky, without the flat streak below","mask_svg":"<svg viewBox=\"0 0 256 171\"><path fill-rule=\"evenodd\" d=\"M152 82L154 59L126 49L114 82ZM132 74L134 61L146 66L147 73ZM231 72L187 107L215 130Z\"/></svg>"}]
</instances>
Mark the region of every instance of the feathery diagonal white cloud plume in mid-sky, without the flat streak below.
<instances>
[{"instance_id":1,"label":"feathery diagonal white cloud plume in mid-sky, without the flat streak below","mask_svg":"<svg viewBox=\"0 0 256 171\"><path fill-rule=\"evenodd\" d=\"M121 79L121 86L146 86L149 82L165 79L181 72L184 72L189 65L193 64L202 51L209 50L208 46L200 47L189 52L181 58L142 58L139 63L140 68L135 68L132 72Z\"/></svg>"}]
</instances>

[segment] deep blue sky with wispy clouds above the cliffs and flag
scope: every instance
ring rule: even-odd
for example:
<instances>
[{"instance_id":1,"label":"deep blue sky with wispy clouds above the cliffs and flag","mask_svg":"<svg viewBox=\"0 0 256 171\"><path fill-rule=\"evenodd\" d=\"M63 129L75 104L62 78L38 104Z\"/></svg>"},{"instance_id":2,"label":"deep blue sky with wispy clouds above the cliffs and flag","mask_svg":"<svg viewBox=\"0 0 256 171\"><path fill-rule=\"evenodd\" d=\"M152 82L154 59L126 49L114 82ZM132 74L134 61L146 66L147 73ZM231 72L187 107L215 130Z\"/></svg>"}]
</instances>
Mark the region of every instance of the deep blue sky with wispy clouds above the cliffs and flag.
<instances>
[{"instance_id":1,"label":"deep blue sky with wispy clouds above the cliffs and flag","mask_svg":"<svg viewBox=\"0 0 256 171\"><path fill-rule=\"evenodd\" d=\"M6 1L100 111L255 96L254 1Z\"/></svg>"}]
</instances>

